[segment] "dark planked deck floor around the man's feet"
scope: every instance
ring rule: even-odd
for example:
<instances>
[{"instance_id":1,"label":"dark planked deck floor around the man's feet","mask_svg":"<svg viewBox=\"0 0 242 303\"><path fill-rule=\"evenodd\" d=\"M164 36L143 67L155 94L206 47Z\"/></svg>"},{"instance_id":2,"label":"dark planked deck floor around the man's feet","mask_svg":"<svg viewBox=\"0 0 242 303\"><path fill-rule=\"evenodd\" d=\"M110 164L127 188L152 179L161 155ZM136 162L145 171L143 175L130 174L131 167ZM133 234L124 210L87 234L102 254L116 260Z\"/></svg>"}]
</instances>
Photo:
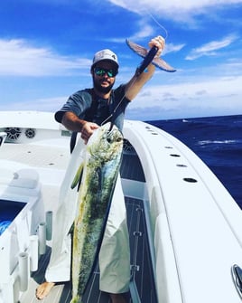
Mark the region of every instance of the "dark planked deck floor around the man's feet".
<instances>
[{"instance_id":1,"label":"dark planked deck floor around the man's feet","mask_svg":"<svg viewBox=\"0 0 242 303\"><path fill-rule=\"evenodd\" d=\"M127 222L130 235L131 250L131 272L132 280L138 294L134 294L134 299L130 294L126 294L128 302L149 302L155 303L156 295L154 280L152 279L152 267L149 249L147 245L147 233L144 223L144 207L141 200L126 198ZM44 281L44 273L51 256L51 247L47 247L46 254L40 259L39 270L33 273L27 292L23 293L20 303L40 302L35 298L36 287ZM87 288L87 292L82 300L83 303L109 303L106 293L99 291L99 270L98 265L94 271ZM70 282L58 283L51 290L50 295L42 300L43 303L69 303L71 299ZM138 300L140 299L140 300Z\"/></svg>"}]
</instances>

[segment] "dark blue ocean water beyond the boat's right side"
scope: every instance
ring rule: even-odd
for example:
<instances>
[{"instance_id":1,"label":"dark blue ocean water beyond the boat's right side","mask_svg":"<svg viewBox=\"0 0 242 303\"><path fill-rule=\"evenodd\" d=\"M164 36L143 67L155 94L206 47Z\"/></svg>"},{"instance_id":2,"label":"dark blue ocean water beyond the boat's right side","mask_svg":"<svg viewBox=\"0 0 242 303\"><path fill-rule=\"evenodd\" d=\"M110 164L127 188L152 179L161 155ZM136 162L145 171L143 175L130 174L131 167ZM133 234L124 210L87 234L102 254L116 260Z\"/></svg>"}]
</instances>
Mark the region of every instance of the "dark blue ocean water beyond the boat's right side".
<instances>
[{"instance_id":1,"label":"dark blue ocean water beyond the boat's right side","mask_svg":"<svg viewBox=\"0 0 242 303\"><path fill-rule=\"evenodd\" d=\"M242 209L242 115L148 121L190 147Z\"/></svg>"}]
</instances>

